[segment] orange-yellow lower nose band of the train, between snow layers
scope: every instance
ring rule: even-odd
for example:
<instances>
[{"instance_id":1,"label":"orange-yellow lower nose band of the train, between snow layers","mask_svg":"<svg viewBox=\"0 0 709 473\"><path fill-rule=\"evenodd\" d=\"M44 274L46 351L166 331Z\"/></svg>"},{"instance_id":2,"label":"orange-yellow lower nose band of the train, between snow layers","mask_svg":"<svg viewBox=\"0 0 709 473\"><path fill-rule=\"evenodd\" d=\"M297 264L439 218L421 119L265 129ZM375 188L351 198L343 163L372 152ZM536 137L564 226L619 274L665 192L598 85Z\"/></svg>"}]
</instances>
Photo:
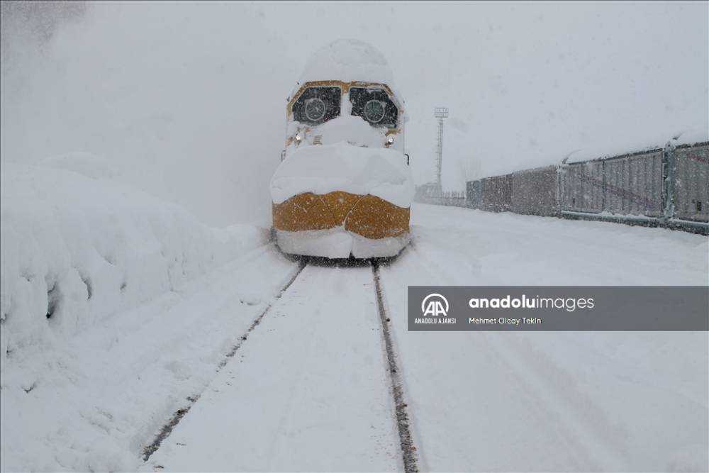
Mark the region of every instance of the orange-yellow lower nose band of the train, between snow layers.
<instances>
[{"instance_id":1,"label":"orange-yellow lower nose band of the train, between snow layers","mask_svg":"<svg viewBox=\"0 0 709 473\"><path fill-rule=\"evenodd\" d=\"M377 196L334 191L306 192L273 204L273 226L291 232L344 227L364 238L397 237L408 232L410 211Z\"/></svg>"}]
</instances>

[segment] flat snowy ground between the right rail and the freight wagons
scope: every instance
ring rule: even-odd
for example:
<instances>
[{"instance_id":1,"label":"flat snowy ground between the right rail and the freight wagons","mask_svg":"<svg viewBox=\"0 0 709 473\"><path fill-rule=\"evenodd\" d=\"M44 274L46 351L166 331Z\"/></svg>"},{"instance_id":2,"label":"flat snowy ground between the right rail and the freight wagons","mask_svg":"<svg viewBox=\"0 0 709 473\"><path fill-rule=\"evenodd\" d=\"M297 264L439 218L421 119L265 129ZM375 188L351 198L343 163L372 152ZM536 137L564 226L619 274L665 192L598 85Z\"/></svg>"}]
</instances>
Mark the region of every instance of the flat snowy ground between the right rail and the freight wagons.
<instances>
[{"instance_id":1,"label":"flat snowy ground between the right rail and the freight wagons","mask_svg":"<svg viewBox=\"0 0 709 473\"><path fill-rule=\"evenodd\" d=\"M424 469L705 471L706 333L408 332L408 285L708 284L708 239L417 206L382 270ZM435 401L434 401L435 400Z\"/></svg>"}]
</instances>

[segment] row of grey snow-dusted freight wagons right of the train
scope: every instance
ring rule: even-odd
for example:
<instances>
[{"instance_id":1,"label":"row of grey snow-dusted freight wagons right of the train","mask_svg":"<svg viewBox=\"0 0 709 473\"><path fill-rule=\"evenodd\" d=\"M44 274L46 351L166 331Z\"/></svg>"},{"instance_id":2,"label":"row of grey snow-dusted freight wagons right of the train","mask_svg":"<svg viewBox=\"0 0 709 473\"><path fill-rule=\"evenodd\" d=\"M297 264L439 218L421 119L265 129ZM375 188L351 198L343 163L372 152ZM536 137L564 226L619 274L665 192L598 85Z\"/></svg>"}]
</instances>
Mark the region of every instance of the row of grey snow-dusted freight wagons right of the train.
<instances>
[{"instance_id":1,"label":"row of grey snow-dusted freight wagons right of the train","mask_svg":"<svg viewBox=\"0 0 709 473\"><path fill-rule=\"evenodd\" d=\"M709 142L668 144L485 177L467 182L465 194L467 207L484 211L607 220L709 234Z\"/></svg>"}]
</instances>

